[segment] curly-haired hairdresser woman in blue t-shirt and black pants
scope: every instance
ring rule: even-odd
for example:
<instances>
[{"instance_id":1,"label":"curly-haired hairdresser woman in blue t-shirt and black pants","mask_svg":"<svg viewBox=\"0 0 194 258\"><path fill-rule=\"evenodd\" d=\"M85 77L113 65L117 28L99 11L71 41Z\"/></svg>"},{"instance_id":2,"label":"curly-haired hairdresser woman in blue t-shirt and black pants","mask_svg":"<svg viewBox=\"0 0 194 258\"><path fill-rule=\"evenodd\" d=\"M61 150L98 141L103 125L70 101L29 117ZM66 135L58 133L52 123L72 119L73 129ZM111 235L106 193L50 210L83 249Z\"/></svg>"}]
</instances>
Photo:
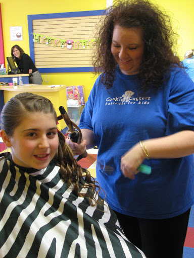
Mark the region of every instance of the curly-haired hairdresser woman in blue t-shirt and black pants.
<instances>
[{"instance_id":1,"label":"curly-haired hairdresser woman in blue t-shirt and black pants","mask_svg":"<svg viewBox=\"0 0 194 258\"><path fill-rule=\"evenodd\" d=\"M194 204L194 84L174 56L170 18L149 1L106 12L83 142L99 148L96 179L128 239L147 258L181 258ZM139 172L149 165L151 174Z\"/></svg>"}]
</instances>

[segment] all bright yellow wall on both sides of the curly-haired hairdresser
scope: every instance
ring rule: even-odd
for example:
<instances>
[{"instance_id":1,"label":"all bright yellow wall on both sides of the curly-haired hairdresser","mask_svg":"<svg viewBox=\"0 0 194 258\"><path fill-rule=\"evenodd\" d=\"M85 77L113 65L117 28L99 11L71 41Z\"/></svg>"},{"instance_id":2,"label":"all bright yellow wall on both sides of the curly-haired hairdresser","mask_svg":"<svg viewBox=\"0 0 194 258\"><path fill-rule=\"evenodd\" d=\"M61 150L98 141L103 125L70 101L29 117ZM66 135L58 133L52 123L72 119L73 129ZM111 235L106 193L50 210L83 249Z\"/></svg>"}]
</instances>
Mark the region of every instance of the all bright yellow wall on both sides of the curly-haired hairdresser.
<instances>
[{"instance_id":1,"label":"all bright yellow wall on both sides of the curly-haired hairdresser","mask_svg":"<svg viewBox=\"0 0 194 258\"><path fill-rule=\"evenodd\" d=\"M153 0L153 2L169 10L170 13L173 13L175 27L177 27L177 32L180 35L178 55L182 58L186 50L194 48L194 34L192 33L192 24L194 24L194 17L192 15L194 1ZM0 0L0 3L2 9L5 57L11 55L11 47L14 44L20 45L24 51L29 54L27 15L91 11L106 8L106 0L33 0L32 2L26 0ZM10 40L10 26L22 26L23 41ZM43 80L45 79L43 84L85 85L85 100L87 100L96 79L96 77L93 77L92 73L51 73L43 75L42 77Z\"/></svg>"}]
</instances>

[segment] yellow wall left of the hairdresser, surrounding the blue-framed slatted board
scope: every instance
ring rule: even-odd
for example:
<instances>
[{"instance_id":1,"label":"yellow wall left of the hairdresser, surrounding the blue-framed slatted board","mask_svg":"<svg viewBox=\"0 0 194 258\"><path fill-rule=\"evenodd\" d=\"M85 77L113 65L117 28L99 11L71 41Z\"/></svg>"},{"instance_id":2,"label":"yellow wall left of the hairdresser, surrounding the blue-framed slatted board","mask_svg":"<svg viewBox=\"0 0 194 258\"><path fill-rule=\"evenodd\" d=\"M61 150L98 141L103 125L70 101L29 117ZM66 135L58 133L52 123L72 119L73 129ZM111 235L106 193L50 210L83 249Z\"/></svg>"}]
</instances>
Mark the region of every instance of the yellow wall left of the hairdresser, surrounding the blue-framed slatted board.
<instances>
[{"instance_id":1,"label":"yellow wall left of the hairdresser, surrounding the blue-framed slatted board","mask_svg":"<svg viewBox=\"0 0 194 258\"><path fill-rule=\"evenodd\" d=\"M106 9L106 0L0 0L2 9L4 52L6 56L11 55L11 47L15 44L21 46L29 54L28 19L27 15L81 12ZM10 40L10 26L22 26L23 41ZM7 62L6 62L7 68ZM43 74L43 84L67 84L85 85L85 100L89 95L91 87L96 79L92 73L51 73Z\"/></svg>"}]
</instances>

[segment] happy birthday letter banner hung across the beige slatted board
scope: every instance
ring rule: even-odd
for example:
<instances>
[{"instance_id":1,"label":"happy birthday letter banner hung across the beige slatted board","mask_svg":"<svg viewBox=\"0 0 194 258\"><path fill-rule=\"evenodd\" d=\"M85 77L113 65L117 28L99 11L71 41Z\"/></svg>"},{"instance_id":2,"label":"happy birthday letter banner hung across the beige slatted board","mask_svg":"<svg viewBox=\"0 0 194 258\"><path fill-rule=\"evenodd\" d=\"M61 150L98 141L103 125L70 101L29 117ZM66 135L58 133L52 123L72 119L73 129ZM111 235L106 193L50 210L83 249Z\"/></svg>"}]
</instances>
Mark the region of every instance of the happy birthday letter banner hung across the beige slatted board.
<instances>
[{"instance_id":1,"label":"happy birthday letter banner hung across the beige slatted board","mask_svg":"<svg viewBox=\"0 0 194 258\"><path fill-rule=\"evenodd\" d=\"M40 35L37 33L32 33L33 34L33 41L34 42L39 42L41 44L46 44L47 46L49 46L51 43L53 44L53 46L57 46L58 43L61 43L60 47L64 48L65 45L67 47L67 49L72 49L73 47L73 43L74 43L74 48L73 49L78 49L80 44L81 47L83 49L86 49L86 42L89 43L89 48L93 47L93 43L94 41L96 41L96 39L88 39L88 40L70 40L70 39L58 39L58 38L52 38L52 37L48 37L48 36L44 36L44 35ZM53 40L53 42L52 42Z\"/></svg>"}]
</instances>

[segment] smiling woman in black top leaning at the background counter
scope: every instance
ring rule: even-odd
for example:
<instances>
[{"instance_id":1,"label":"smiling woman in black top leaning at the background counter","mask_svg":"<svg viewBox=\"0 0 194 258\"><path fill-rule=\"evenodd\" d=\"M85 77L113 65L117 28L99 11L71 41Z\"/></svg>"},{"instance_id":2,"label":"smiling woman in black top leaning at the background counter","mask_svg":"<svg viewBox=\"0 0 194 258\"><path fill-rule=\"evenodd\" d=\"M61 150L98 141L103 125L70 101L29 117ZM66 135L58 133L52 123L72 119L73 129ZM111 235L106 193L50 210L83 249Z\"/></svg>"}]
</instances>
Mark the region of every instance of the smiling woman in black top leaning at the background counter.
<instances>
[{"instance_id":1,"label":"smiling woman in black top leaning at the background counter","mask_svg":"<svg viewBox=\"0 0 194 258\"><path fill-rule=\"evenodd\" d=\"M30 74L29 83L42 84L40 72L35 67L30 56L24 53L24 50L20 46L14 45L11 49L11 55L14 61L16 61L20 72L22 74Z\"/></svg>"}]
</instances>

